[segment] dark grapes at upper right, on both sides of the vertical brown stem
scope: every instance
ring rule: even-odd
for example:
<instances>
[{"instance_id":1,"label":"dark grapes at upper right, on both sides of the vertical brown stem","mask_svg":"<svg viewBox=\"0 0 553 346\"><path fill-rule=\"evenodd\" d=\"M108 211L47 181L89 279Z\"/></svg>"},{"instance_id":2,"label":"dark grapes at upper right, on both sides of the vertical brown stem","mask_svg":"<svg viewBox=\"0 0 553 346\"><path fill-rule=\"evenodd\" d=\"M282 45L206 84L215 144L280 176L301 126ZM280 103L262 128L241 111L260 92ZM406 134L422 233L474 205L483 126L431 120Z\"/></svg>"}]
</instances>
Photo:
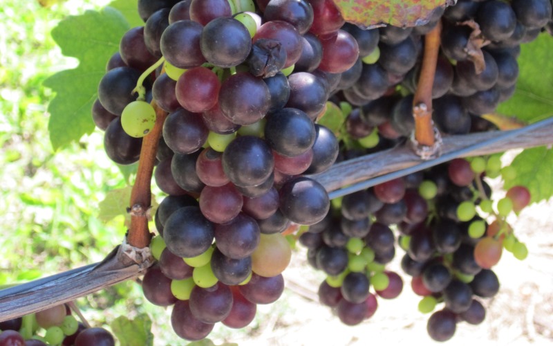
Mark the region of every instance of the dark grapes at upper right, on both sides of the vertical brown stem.
<instances>
[{"instance_id":1,"label":"dark grapes at upper right, on both sides of the vertical brown stem","mask_svg":"<svg viewBox=\"0 0 553 346\"><path fill-rule=\"evenodd\" d=\"M359 60L341 73L331 100L360 107L353 113L353 138L373 147L381 138L410 136L424 42L421 35L441 21L441 50L433 83L433 121L443 134L467 134L479 117L514 93L521 44L536 39L550 21L549 0L459 0L438 8L429 24L361 30L346 24L357 40ZM472 126L471 126L472 125Z\"/></svg>"}]
</instances>

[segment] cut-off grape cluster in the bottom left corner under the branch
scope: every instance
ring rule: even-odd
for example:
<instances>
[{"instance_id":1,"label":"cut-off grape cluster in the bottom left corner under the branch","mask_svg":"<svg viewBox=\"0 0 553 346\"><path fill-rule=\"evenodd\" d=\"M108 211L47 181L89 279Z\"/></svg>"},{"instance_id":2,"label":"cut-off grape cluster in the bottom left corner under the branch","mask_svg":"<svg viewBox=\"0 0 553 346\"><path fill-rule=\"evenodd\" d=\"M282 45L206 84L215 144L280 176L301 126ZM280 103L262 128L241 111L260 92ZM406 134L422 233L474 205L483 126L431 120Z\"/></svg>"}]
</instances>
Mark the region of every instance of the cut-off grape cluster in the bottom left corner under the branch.
<instances>
[{"instance_id":1,"label":"cut-off grape cluster in the bottom left corner under the branch","mask_svg":"<svg viewBox=\"0 0 553 346\"><path fill-rule=\"evenodd\" d=\"M86 328L62 304L0 322L0 345L115 346L115 340L106 329Z\"/></svg>"}]
</instances>

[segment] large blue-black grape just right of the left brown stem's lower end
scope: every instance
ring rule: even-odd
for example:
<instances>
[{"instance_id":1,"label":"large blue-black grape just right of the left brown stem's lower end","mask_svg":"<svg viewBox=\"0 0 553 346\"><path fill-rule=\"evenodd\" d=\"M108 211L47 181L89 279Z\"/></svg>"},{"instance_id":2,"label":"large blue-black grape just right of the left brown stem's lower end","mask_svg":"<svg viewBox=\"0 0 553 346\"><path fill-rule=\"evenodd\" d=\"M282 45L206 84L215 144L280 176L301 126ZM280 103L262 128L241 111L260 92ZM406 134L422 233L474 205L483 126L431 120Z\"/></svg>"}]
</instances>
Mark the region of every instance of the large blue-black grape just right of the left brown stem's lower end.
<instances>
[{"instance_id":1,"label":"large blue-black grape just right of the left brown stem's lower end","mask_svg":"<svg viewBox=\"0 0 553 346\"><path fill-rule=\"evenodd\" d=\"M200 208L180 208L165 222L163 238L171 253L195 257L212 245L214 225L203 216Z\"/></svg>"}]
</instances>

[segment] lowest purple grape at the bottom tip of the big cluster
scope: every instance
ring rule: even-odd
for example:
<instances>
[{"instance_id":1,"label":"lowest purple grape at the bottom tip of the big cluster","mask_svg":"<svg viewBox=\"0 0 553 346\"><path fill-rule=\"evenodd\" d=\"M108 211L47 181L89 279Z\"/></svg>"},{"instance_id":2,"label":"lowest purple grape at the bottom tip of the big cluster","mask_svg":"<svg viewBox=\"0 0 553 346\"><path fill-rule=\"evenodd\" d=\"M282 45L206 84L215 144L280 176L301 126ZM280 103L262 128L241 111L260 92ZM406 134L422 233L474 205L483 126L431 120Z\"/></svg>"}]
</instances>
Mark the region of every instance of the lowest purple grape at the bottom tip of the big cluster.
<instances>
[{"instance_id":1,"label":"lowest purple grape at the bottom tip of the big cluster","mask_svg":"<svg viewBox=\"0 0 553 346\"><path fill-rule=\"evenodd\" d=\"M208 336L214 324L198 320L190 311L189 300L179 300L171 312L171 326L180 338L194 341Z\"/></svg>"}]
</instances>

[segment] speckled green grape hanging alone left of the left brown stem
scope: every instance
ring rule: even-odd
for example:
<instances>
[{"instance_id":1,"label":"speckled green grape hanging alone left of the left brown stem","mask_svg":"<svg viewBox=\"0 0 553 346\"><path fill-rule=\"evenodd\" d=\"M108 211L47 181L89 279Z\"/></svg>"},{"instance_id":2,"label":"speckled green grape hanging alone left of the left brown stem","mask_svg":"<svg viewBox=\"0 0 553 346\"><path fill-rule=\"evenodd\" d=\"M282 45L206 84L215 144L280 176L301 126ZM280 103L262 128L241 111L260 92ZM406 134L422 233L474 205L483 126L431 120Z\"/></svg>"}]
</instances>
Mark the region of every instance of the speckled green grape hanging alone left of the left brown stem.
<instances>
[{"instance_id":1,"label":"speckled green grape hanging alone left of the left brown stem","mask_svg":"<svg viewBox=\"0 0 553 346\"><path fill-rule=\"evenodd\" d=\"M133 101L123 109L121 125L129 136L144 137L156 125L156 111L148 102Z\"/></svg>"}]
</instances>

